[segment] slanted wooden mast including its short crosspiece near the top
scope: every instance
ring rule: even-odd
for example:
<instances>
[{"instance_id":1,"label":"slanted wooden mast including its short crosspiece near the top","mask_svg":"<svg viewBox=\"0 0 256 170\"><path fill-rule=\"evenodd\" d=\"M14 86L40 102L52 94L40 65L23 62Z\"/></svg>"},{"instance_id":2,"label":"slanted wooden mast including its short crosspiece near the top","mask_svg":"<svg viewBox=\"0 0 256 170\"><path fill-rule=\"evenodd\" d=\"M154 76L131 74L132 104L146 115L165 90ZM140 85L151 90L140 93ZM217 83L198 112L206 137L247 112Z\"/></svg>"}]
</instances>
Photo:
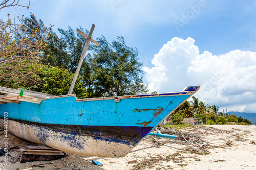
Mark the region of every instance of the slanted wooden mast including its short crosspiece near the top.
<instances>
[{"instance_id":1,"label":"slanted wooden mast including its short crosspiece near the top","mask_svg":"<svg viewBox=\"0 0 256 170\"><path fill-rule=\"evenodd\" d=\"M86 34L84 34L83 32L81 32L80 30L77 30L77 32L78 32L79 34L81 34L82 36L86 37L87 40L86 40L86 44L84 44L84 47L83 47L83 50L82 50L82 55L81 55L81 57L80 57L80 60L79 60L78 65L77 65L76 72L75 72L75 76L74 76L73 81L72 81L72 83L71 83L71 85L70 85L69 93L68 93L68 94L72 94L72 92L73 92L73 89L74 89L74 86L75 86L75 83L76 83L76 79L77 79L78 74L79 74L79 71L80 71L80 69L81 69L81 65L82 65L84 56L86 56L86 51L87 51L87 48L88 48L88 46L89 46L90 41L92 41L93 43L95 43L96 45L99 46L99 43L96 42L95 40L93 40L93 39L91 38L91 37L92 37L92 34L93 34L94 27L95 27L95 25L93 24L93 25L92 25L92 28L91 28L91 30L90 30L89 36L86 35Z\"/></svg>"}]
</instances>

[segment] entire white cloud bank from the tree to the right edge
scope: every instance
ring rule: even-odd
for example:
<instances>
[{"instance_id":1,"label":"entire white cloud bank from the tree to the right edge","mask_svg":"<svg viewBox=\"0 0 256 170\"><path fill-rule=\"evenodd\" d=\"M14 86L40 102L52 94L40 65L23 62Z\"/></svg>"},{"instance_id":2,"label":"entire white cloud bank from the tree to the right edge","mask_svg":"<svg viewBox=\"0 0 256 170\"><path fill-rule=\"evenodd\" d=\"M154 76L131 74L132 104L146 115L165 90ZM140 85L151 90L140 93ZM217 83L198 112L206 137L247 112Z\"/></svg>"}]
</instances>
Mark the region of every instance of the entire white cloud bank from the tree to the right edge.
<instances>
[{"instance_id":1,"label":"entire white cloud bank from the tree to the right edge","mask_svg":"<svg viewBox=\"0 0 256 170\"><path fill-rule=\"evenodd\" d=\"M154 56L154 67L143 67L150 91L181 91L200 85L195 96L206 104L256 112L256 53L199 54L194 42L190 37L175 37Z\"/></svg>"}]
</instances>

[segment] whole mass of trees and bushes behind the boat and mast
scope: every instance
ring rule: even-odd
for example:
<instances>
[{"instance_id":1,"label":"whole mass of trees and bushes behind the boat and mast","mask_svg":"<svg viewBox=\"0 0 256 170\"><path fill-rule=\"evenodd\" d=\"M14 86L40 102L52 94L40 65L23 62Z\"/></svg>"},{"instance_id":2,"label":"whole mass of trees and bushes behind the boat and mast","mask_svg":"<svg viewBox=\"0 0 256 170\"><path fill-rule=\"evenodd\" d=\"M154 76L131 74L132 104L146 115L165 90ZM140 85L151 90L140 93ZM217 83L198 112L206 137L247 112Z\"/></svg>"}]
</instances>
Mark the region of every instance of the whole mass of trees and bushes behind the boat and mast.
<instances>
[{"instance_id":1,"label":"whole mass of trees and bushes behind the boat and mast","mask_svg":"<svg viewBox=\"0 0 256 170\"><path fill-rule=\"evenodd\" d=\"M9 33L2 34L6 41L0 52L1 86L67 94L86 38L70 27L67 31L58 29L58 37L33 14L20 22L12 25L9 20L5 25ZM6 28L2 27L3 33ZM126 46L123 37L112 43L103 36L97 41L100 46L89 45L79 72L74 89L78 98L146 93L137 49Z\"/></svg>"}]
</instances>

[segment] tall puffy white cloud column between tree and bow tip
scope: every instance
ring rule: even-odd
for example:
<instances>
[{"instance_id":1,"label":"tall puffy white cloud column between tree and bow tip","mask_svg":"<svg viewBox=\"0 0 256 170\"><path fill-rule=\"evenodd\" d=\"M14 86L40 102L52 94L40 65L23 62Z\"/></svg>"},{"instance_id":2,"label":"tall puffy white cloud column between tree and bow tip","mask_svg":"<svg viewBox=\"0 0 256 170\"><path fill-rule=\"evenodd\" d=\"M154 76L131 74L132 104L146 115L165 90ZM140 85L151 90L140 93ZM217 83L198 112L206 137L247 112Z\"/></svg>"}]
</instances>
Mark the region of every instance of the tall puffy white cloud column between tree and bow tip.
<instances>
[{"instance_id":1,"label":"tall puffy white cloud column between tree and bow tip","mask_svg":"<svg viewBox=\"0 0 256 170\"><path fill-rule=\"evenodd\" d=\"M187 86L190 80L187 76L187 68L191 65L191 60L199 54L194 42L193 38L183 40L175 37L164 44L155 55L152 60L155 67L151 69L143 67L151 91L170 92Z\"/></svg>"}]
</instances>

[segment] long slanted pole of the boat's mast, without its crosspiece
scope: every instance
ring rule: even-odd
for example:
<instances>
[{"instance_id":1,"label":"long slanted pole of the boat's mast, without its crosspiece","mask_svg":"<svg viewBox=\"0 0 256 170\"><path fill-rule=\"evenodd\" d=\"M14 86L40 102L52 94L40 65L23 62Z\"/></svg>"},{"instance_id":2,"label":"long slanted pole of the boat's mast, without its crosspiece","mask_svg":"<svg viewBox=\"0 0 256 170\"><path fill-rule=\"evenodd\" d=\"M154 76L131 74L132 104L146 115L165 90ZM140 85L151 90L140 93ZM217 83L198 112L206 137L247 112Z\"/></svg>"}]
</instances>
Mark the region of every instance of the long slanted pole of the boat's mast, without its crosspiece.
<instances>
[{"instance_id":1,"label":"long slanted pole of the boat's mast, without its crosspiece","mask_svg":"<svg viewBox=\"0 0 256 170\"><path fill-rule=\"evenodd\" d=\"M73 89L74 89L74 86L75 86L75 83L76 83L76 79L78 77L78 74L79 74L79 71L80 71L80 68L81 68L81 65L82 65L82 62L83 62L83 59L84 59L84 56L86 56L86 51L87 51L87 48L89 46L89 43L90 43L90 40L91 40L91 37L92 37L92 34L93 34L93 30L94 30L94 27L95 25L93 24L92 25L92 28L90 30L90 33L89 33L89 38L87 38L86 40L86 44L84 44L84 47L83 47L83 50L82 50L82 54L81 54L81 57L80 57L80 60L79 60L79 63L76 67L76 72L75 72L75 76L72 80L72 83L71 83L71 86L70 86L70 89L69 89L69 93L68 94L72 94L73 92Z\"/></svg>"}]
</instances>

